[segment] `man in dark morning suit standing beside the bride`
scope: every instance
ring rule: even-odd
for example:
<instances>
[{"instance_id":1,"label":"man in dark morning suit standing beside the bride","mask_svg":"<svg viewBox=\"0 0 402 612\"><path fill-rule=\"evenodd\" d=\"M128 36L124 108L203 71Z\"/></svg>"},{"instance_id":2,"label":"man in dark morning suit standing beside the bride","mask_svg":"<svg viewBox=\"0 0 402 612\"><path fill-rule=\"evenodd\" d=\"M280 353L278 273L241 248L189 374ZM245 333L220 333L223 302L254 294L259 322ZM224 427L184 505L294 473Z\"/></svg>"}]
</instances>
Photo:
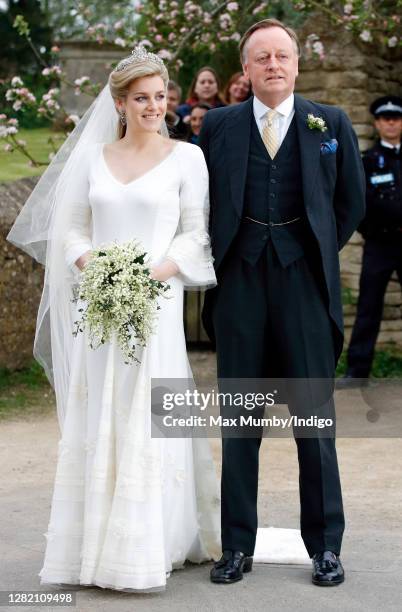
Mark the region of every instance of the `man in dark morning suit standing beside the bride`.
<instances>
[{"instance_id":1,"label":"man in dark morning suit standing beside the bride","mask_svg":"<svg viewBox=\"0 0 402 612\"><path fill-rule=\"evenodd\" d=\"M365 207L357 139L343 111L293 94L293 30L261 21L244 34L240 54L254 97L209 111L199 142L218 279L203 320L216 341L218 376L332 379L343 342L338 251ZM223 556L213 582L251 570L260 443L222 441ZM344 515L335 439L296 443L313 582L339 584Z\"/></svg>"}]
</instances>

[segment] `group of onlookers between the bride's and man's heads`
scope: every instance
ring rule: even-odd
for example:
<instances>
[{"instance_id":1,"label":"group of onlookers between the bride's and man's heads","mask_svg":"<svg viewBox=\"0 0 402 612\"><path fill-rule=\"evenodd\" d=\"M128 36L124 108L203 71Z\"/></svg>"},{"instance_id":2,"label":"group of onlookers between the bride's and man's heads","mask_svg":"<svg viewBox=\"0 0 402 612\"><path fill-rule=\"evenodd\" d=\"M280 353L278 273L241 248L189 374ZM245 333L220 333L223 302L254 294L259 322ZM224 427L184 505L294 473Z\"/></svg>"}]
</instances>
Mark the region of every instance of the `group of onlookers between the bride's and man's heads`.
<instances>
[{"instance_id":1,"label":"group of onlookers between the bride's and man's heads","mask_svg":"<svg viewBox=\"0 0 402 612\"><path fill-rule=\"evenodd\" d=\"M198 143L202 120L211 108L244 102L251 95L249 80L242 72L235 72L221 89L217 72L210 66L198 70L182 102L182 89L169 81L166 123L171 138Z\"/></svg>"}]
</instances>

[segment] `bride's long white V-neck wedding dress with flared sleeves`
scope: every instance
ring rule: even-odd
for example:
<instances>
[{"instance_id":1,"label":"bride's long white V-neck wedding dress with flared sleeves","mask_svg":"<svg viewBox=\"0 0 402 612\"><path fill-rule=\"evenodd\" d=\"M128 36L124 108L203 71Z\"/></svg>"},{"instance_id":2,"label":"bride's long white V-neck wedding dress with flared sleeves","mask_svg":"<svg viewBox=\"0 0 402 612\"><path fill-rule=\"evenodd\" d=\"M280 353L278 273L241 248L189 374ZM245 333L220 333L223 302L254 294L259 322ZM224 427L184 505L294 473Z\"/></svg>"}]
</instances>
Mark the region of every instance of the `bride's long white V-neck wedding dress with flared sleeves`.
<instances>
[{"instance_id":1,"label":"bride's long white V-neck wedding dress with flared sleeves","mask_svg":"<svg viewBox=\"0 0 402 612\"><path fill-rule=\"evenodd\" d=\"M208 173L201 150L179 142L157 166L123 184L86 152L71 186L69 266L88 249L137 239L158 264L175 261L171 299L155 334L124 363L115 342L73 340L69 391L41 584L163 589L185 560L220 556L220 502L206 439L151 437L151 378L189 378L183 289L216 282L206 232ZM75 308L73 305L72 308Z\"/></svg>"}]
</instances>

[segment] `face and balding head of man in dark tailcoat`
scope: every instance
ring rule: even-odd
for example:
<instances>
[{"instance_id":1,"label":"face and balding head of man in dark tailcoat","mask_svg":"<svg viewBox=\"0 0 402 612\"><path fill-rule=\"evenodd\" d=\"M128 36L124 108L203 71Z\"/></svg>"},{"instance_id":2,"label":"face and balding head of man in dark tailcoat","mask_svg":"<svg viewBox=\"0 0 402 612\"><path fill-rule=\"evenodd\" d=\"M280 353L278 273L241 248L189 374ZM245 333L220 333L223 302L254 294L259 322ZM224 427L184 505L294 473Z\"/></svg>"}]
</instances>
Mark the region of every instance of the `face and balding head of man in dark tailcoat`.
<instances>
[{"instance_id":1,"label":"face and balding head of man in dark tailcoat","mask_svg":"<svg viewBox=\"0 0 402 612\"><path fill-rule=\"evenodd\" d=\"M279 27L262 28L246 43L243 71L259 98L285 100L293 92L299 74L295 43Z\"/></svg>"}]
</instances>

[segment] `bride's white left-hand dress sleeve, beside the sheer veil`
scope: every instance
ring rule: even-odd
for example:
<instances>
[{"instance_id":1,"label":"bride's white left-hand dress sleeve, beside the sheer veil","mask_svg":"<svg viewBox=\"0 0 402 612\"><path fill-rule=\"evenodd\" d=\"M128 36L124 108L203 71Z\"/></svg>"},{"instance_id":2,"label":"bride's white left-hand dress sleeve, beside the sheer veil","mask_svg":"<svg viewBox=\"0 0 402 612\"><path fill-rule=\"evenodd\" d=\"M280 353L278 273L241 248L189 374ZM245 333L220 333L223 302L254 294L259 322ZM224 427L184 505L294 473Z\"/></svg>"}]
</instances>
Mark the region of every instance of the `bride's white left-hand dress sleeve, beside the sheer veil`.
<instances>
[{"instance_id":1,"label":"bride's white left-hand dress sleeve, beside the sheer veil","mask_svg":"<svg viewBox=\"0 0 402 612\"><path fill-rule=\"evenodd\" d=\"M74 185L68 192L69 213L64 234L64 258L72 271L75 262L92 249L92 211L89 204L88 156L77 164Z\"/></svg>"}]
</instances>

